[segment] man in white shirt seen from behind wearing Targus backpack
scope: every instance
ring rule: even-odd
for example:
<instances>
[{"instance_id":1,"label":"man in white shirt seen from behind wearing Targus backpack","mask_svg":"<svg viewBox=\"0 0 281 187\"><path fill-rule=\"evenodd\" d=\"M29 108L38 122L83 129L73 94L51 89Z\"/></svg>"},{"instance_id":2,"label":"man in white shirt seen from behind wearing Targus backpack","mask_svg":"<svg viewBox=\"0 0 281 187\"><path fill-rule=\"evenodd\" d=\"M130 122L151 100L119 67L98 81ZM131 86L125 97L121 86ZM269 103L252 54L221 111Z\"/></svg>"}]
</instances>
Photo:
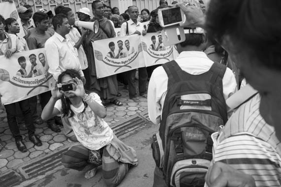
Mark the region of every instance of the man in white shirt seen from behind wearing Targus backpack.
<instances>
[{"instance_id":1,"label":"man in white shirt seen from behind wearing Targus backpack","mask_svg":"<svg viewBox=\"0 0 281 187\"><path fill-rule=\"evenodd\" d=\"M176 44L176 61L157 67L148 86L148 114L160 124L153 136L153 187L204 186L211 161L211 133L227 121L225 99L237 91L233 72L202 52L202 29ZM196 176L195 176L196 173Z\"/></svg>"}]
</instances>

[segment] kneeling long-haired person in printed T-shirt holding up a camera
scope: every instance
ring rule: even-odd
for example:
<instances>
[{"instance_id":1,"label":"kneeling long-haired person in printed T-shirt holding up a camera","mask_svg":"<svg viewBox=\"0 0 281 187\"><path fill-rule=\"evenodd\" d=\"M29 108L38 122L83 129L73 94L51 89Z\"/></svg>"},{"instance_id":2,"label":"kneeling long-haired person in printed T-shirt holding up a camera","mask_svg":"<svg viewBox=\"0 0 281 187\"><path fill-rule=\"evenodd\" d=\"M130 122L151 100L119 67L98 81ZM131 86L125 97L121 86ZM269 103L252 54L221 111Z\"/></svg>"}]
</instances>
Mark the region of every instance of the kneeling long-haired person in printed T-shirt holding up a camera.
<instances>
[{"instance_id":1,"label":"kneeling long-haired person in printed T-shirt holding up a camera","mask_svg":"<svg viewBox=\"0 0 281 187\"><path fill-rule=\"evenodd\" d=\"M63 92L62 86L71 84L72 90ZM103 177L109 187L115 187L131 166L137 166L136 151L121 142L103 120L105 107L98 94L87 94L77 71L68 69L58 77L51 90L52 97L42 111L47 120L58 114L67 117L79 145L72 146L63 156L65 167L85 171L85 178L95 176L102 165Z\"/></svg>"}]
</instances>

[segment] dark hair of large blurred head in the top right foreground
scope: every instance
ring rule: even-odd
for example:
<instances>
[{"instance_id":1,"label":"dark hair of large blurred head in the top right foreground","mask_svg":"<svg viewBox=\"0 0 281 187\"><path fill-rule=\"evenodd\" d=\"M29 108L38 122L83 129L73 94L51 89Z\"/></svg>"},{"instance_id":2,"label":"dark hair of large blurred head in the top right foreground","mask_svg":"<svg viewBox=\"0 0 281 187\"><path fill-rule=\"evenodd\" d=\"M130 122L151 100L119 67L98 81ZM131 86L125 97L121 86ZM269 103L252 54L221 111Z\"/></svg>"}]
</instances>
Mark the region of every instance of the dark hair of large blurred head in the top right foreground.
<instances>
[{"instance_id":1,"label":"dark hair of large blurred head in the top right foreground","mask_svg":"<svg viewBox=\"0 0 281 187\"><path fill-rule=\"evenodd\" d=\"M281 0L211 0L207 32L219 43L229 35L234 50L246 50L259 65L281 70L280 10Z\"/></svg>"}]
</instances>

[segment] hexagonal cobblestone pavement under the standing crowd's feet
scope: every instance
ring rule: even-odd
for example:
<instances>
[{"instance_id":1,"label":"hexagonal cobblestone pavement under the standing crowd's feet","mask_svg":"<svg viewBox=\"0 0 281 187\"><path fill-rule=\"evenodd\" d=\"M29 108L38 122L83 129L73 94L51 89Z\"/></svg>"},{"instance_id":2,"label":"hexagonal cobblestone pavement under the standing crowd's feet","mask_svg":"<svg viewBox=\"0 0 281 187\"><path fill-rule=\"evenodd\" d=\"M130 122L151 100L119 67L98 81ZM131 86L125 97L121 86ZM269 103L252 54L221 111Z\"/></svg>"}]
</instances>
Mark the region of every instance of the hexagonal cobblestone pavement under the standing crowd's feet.
<instances>
[{"instance_id":1,"label":"hexagonal cobblestone pavement under the standing crowd's feet","mask_svg":"<svg viewBox=\"0 0 281 187\"><path fill-rule=\"evenodd\" d=\"M138 83L136 84L138 85ZM129 93L124 89L122 84L119 85L118 89L122 94L122 96L118 97L118 100L123 103L123 106L116 106L114 104L106 105L107 116L105 121L109 126L115 122L147 110L146 98L140 97L140 102L136 103L132 99L129 99ZM39 108L40 107L38 107L38 109ZM42 125L35 125L35 127L35 134L39 135L43 145L40 147L34 146L34 144L28 139L27 130L21 130L23 142L28 149L26 153L21 153L18 151L8 127L5 108L4 106L0 106L0 139L2 140L2 145L4 146L3 150L0 152L0 174L7 169L16 167L23 162L52 152L59 147L70 143L64 135L63 129L61 129L62 131L59 133L54 132L47 127L46 123L43 123ZM63 127L60 126L60 128Z\"/></svg>"}]
</instances>

